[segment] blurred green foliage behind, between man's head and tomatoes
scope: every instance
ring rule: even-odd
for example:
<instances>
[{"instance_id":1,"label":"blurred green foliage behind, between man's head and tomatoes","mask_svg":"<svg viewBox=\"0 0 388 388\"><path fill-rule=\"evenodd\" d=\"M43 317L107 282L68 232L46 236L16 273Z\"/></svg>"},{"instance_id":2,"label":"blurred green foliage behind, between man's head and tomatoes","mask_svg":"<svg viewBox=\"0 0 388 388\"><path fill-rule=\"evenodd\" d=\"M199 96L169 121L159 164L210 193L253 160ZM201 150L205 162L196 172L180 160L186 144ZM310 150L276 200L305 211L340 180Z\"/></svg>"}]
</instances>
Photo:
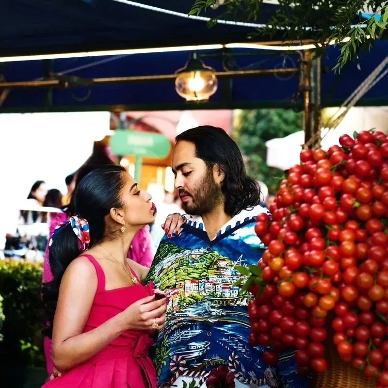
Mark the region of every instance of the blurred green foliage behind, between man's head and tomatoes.
<instances>
[{"instance_id":1,"label":"blurred green foliage behind, between man's head and tomatoes","mask_svg":"<svg viewBox=\"0 0 388 388\"><path fill-rule=\"evenodd\" d=\"M242 111L241 126L237 128L237 144L247 158L248 175L263 181L270 194L276 193L283 171L266 165L265 142L302 129L303 113L286 109Z\"/></svg>"}]
</instances>

